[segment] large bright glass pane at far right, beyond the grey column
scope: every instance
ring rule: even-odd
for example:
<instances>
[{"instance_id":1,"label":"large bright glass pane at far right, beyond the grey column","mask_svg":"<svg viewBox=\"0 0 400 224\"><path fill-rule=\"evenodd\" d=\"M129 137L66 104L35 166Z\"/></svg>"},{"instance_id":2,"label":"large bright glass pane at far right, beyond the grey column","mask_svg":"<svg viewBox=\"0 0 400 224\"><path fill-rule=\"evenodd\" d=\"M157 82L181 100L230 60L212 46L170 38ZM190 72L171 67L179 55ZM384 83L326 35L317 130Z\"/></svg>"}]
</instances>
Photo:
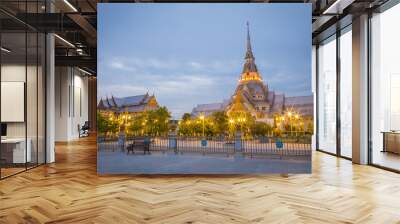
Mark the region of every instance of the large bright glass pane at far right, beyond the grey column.
<instances>
[{"instance_id":1,"label":"large bright glass pane at far right, beyond the grey column","mask_svg":"<svg viewBox=\"0 0 400 224\"><path fill-rule=\"evenodd\" d=\"M400 4L372 18L372 163L400 170Z\"/></svg>"}]
</instances>

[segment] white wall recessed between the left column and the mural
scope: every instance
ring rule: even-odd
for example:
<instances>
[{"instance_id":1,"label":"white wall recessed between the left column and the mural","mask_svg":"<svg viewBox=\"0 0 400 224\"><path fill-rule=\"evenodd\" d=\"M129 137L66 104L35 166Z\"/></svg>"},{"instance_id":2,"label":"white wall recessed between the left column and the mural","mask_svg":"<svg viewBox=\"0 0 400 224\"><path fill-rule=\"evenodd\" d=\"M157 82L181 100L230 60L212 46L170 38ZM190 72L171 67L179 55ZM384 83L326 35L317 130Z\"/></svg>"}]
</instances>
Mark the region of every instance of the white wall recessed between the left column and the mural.
<instances>
[{"instance_id":1,"label":"white wall recessed between the left column and the mural","mask_svg":"<svg viewBox=\"0 0 400 224\"><path fill-rule=\"evenodd\" d=\"M55 140L79 138L78 125L88 120L88 78L76 68L56 67Z\"/></svg>"}]
</instances>

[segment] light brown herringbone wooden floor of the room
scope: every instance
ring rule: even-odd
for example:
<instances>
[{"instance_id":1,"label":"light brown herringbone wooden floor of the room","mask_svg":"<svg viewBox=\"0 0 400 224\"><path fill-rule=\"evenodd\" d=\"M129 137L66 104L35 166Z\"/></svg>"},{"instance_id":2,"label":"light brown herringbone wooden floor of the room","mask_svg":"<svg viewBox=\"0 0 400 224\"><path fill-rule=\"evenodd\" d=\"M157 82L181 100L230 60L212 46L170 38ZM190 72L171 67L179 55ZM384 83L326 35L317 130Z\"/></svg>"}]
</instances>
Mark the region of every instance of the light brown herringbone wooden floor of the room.
<instances>
[{"instance_id":1,"label":"light brown herringbone wooden floor of the room","mask_svg":"<svg viewBox=\"0 0 400 224\"><path fill-rule=\"evenodd\" d=\"M400 223L400 175L313 154L311 175L98 176L93 138L0 181L0 223Z\"/></svg>"}]
</instances>

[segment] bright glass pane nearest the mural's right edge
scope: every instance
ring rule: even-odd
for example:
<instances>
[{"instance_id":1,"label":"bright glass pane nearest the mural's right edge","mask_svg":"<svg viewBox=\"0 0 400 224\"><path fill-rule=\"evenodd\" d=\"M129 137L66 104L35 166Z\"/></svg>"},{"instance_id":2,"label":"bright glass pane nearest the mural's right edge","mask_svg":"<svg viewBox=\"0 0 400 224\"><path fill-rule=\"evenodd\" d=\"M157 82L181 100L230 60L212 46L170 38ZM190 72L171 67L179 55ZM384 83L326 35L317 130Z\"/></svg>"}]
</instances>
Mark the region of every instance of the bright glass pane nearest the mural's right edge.
<instances>
[{"instance_id":1,"label":"bright glass pane nearest the mural's right edge","mask_svg":"<svg viewBox=\"0 0 400 224\"><path fill-rule=\"evenodd\" d=\"M318 146L336 153L336 39L318 48Z\"/></svg>"}]
</instances>

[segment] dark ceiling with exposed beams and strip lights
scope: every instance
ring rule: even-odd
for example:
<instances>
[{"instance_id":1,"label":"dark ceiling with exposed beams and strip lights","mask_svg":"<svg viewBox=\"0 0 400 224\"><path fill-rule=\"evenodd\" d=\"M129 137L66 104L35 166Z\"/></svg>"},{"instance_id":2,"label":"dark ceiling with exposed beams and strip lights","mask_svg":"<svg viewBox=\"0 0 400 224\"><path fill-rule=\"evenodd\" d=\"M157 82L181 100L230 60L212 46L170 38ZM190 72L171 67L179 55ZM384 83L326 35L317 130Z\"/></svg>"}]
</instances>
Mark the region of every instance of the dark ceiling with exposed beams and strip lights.
<instances>
[{"instance_id":1,"label":"dark ceiling with exposed beams and strip lights","mask_svg":"<svg viewBox=\"0 0 400 224\"><path fill-rule=\"evenodd\" d=\"M387 0L254 0L254 1L183 1L173 2L254 2L311 3L313 40L346 16L373 9ZM30 28L54 32L56 65L79 66L93 74L97 64L97 3L171 2L165 0L2 0L2 31L18 32ZM49 12L52 13L49 13ZM351 19L350 19L351 21ZM333 31L334 32L334 31Z\"/></svg>"}]
</instances>

